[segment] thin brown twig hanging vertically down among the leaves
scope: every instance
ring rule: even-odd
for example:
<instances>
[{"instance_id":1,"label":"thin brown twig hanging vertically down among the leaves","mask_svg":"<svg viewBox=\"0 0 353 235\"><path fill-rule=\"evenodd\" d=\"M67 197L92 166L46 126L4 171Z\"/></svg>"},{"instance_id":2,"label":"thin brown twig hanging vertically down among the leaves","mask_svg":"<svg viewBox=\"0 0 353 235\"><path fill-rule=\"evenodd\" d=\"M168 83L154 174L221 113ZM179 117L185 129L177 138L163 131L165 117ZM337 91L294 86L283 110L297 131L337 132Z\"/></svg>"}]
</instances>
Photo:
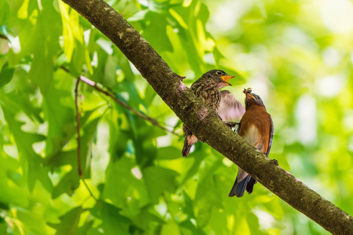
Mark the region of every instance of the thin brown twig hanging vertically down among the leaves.
<instances>
[{"instance_id":1,"label":"thin brown twig hanging vertically down among the leaves","mask_svg":"<svg viewBox=\"0 0 353 235\"><path fill-rule=\"evenodd\" d=\"M81 178L83 184L87 188L88 192L91 194L91 197L94 198L96 201L98 200L89 189L85 179L83 178L82 174L82 166L81 166L81 135L80 135L80 113L78 110L78 85L80 84L80 78L77 78L76 87L75 87L75 106L76 106L76 123L77 123L77 168L78 168L78 175Z\"/></svg>"}]
</instances>

